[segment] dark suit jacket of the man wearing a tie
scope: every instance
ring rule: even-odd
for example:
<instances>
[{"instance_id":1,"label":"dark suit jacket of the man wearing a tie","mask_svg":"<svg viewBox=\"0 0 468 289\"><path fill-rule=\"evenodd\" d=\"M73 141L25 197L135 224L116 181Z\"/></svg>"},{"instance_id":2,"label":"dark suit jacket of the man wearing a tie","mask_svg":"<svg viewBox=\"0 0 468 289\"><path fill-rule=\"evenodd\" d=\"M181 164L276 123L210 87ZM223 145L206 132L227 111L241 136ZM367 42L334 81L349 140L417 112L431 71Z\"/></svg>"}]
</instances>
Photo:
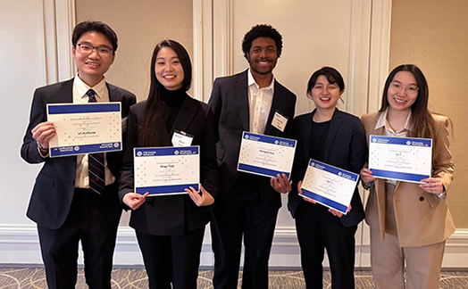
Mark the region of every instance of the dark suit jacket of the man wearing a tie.
<instances>
[{"instance_id":1,"label":"dark suit jacket of the man wearing a tie","mask_svg":"<svg viewBox=\"0 0 468 289\"><path fill-rule=\"evenodd\" d=\"M121 102L121 117L129 114L130 105L136 97L129 91L106 83L111 102ZM62 227L68 216L75 187L76 156L43 159L38 152L38 143L32 138L31 130L46 121L47 103L73 103L73 79L39 87L34 92L29 117L29 125L21 145L21 157L29 163L45 162L36 178L32 190L27 216L38 225L57 229ZM125 145L125 133L122 136ZM118 184L122 152L106 153L107 164ZM104 203L118 205L117 186L106 186L102 197Z\"/></svg>"}]
</instances>

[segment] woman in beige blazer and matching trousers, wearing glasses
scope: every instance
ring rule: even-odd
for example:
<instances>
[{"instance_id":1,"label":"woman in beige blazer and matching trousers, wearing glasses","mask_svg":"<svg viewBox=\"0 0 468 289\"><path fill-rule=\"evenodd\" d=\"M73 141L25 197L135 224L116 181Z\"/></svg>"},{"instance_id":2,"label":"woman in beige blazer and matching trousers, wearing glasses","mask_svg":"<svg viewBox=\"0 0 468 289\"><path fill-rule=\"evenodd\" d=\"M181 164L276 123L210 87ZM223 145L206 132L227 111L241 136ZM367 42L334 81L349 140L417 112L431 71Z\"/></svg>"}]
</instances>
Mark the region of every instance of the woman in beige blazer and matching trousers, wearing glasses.
<instances>
[{"instance_id":1,"label":"woman in beige blazer and matching trousers, wearing glasses","mask_svg":"<svg viewBox=\"0 0 468 289\"><path fill-rule=\"evenodd\" d=\"M454 163L448 149L450 120L431 113L428 86L413 64L392 70L380 111L362 117L370 135L431 138L432 177L421 185L372 177L361 170L370 189L366 222L371 227L372 275L377 288L439 288L445 241L455 231L447 209Z\"/></svg>"}]
</instances>

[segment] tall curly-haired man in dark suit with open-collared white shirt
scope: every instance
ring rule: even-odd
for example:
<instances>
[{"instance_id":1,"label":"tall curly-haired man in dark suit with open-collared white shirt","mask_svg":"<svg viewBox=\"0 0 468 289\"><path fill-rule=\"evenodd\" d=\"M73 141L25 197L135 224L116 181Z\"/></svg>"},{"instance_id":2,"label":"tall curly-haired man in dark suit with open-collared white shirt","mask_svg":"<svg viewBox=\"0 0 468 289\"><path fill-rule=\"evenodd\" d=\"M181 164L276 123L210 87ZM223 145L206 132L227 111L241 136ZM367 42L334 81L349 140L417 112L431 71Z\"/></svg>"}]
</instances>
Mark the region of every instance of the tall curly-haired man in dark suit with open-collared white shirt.
<instances>
[{"instance_id":1,"label":"tall curly-haired man in dark suit with open-collared white shirt","mask_svg":"<svg viewBox=\"0 0 468 289\"><path fill-rule=\"evenodd\" d=\"M214 206L218 227L212 226L216 289L237 288L242 237L242 288L268 287L268 260L281 207L280 194L291 189L284 174L265 178L237 170L242 132L291 136L296 106L296 95L272 74L282 50L280 33L270 25L256 25L244 37L242 50L249 69L217 78L208 103L216 128L220 178ZM217 229L221 240L215 237Z\"/></svg>"}]
</instances>

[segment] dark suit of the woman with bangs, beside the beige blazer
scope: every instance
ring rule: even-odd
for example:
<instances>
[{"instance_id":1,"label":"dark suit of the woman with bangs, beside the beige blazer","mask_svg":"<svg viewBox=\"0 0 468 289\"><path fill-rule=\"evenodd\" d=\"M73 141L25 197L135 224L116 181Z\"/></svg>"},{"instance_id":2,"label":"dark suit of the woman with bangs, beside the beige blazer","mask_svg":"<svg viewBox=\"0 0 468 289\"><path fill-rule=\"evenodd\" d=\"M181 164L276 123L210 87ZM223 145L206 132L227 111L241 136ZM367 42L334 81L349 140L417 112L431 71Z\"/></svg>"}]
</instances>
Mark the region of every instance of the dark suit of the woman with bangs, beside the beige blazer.
<instances>
[{"instance_id":1,"label":"dark suit of the woman with bangs, beside the beige blazer","mask_svg":"<svg viewBox=\"0 0 468 289\"><path fill-rule=\"evenodd\" d=\"M363 203L357 186L351 200L352 210L340 219L321 204L305 202L297 193L297 183L304 178L310 160L314 113L315 111L306 113L294 120L293 138L297 139L297 148L291 175L293 186L288 195L288 210L296 219L307 288L322 288L324 247L330 260L332 288L354 288L354 235L357 225L364 219ZM367 142L361 121L337 109L330 120L322 161L340 169L359 173L364 166L366 155Z\"/></svg>"}]
</instances>

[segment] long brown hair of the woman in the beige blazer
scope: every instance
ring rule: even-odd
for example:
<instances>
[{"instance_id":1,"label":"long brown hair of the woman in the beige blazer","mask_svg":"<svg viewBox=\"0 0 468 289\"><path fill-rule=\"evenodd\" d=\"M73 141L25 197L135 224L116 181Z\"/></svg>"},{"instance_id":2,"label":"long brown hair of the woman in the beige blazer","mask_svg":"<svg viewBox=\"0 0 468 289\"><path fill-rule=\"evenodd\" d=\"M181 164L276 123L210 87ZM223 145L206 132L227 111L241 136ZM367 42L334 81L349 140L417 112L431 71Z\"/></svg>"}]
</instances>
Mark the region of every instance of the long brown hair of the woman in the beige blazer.
<instances>
[{"instance_id":1,"label":"long brown hair of the woman in the beige blazer","mask_svg":"<svg viewBox=\"0 0 468 289\"><path fill-rule=\"evenodd\" d=\"M395 75L400 71L411 72L416 79L416 85L418 86L418 97L411 105L411 136L415 137L426 137L434 138L435 136L435 123L430 111L428 110L429 102L429 88L428 82L422 74L422 71L414 64L402 64L397 66L389 74L389 77L385 81L385 87L383 88L382 105L379 112L387 110L389 107L389 99L387 98L390 83L395 78Z\"/></svg>"}]
</instances>

